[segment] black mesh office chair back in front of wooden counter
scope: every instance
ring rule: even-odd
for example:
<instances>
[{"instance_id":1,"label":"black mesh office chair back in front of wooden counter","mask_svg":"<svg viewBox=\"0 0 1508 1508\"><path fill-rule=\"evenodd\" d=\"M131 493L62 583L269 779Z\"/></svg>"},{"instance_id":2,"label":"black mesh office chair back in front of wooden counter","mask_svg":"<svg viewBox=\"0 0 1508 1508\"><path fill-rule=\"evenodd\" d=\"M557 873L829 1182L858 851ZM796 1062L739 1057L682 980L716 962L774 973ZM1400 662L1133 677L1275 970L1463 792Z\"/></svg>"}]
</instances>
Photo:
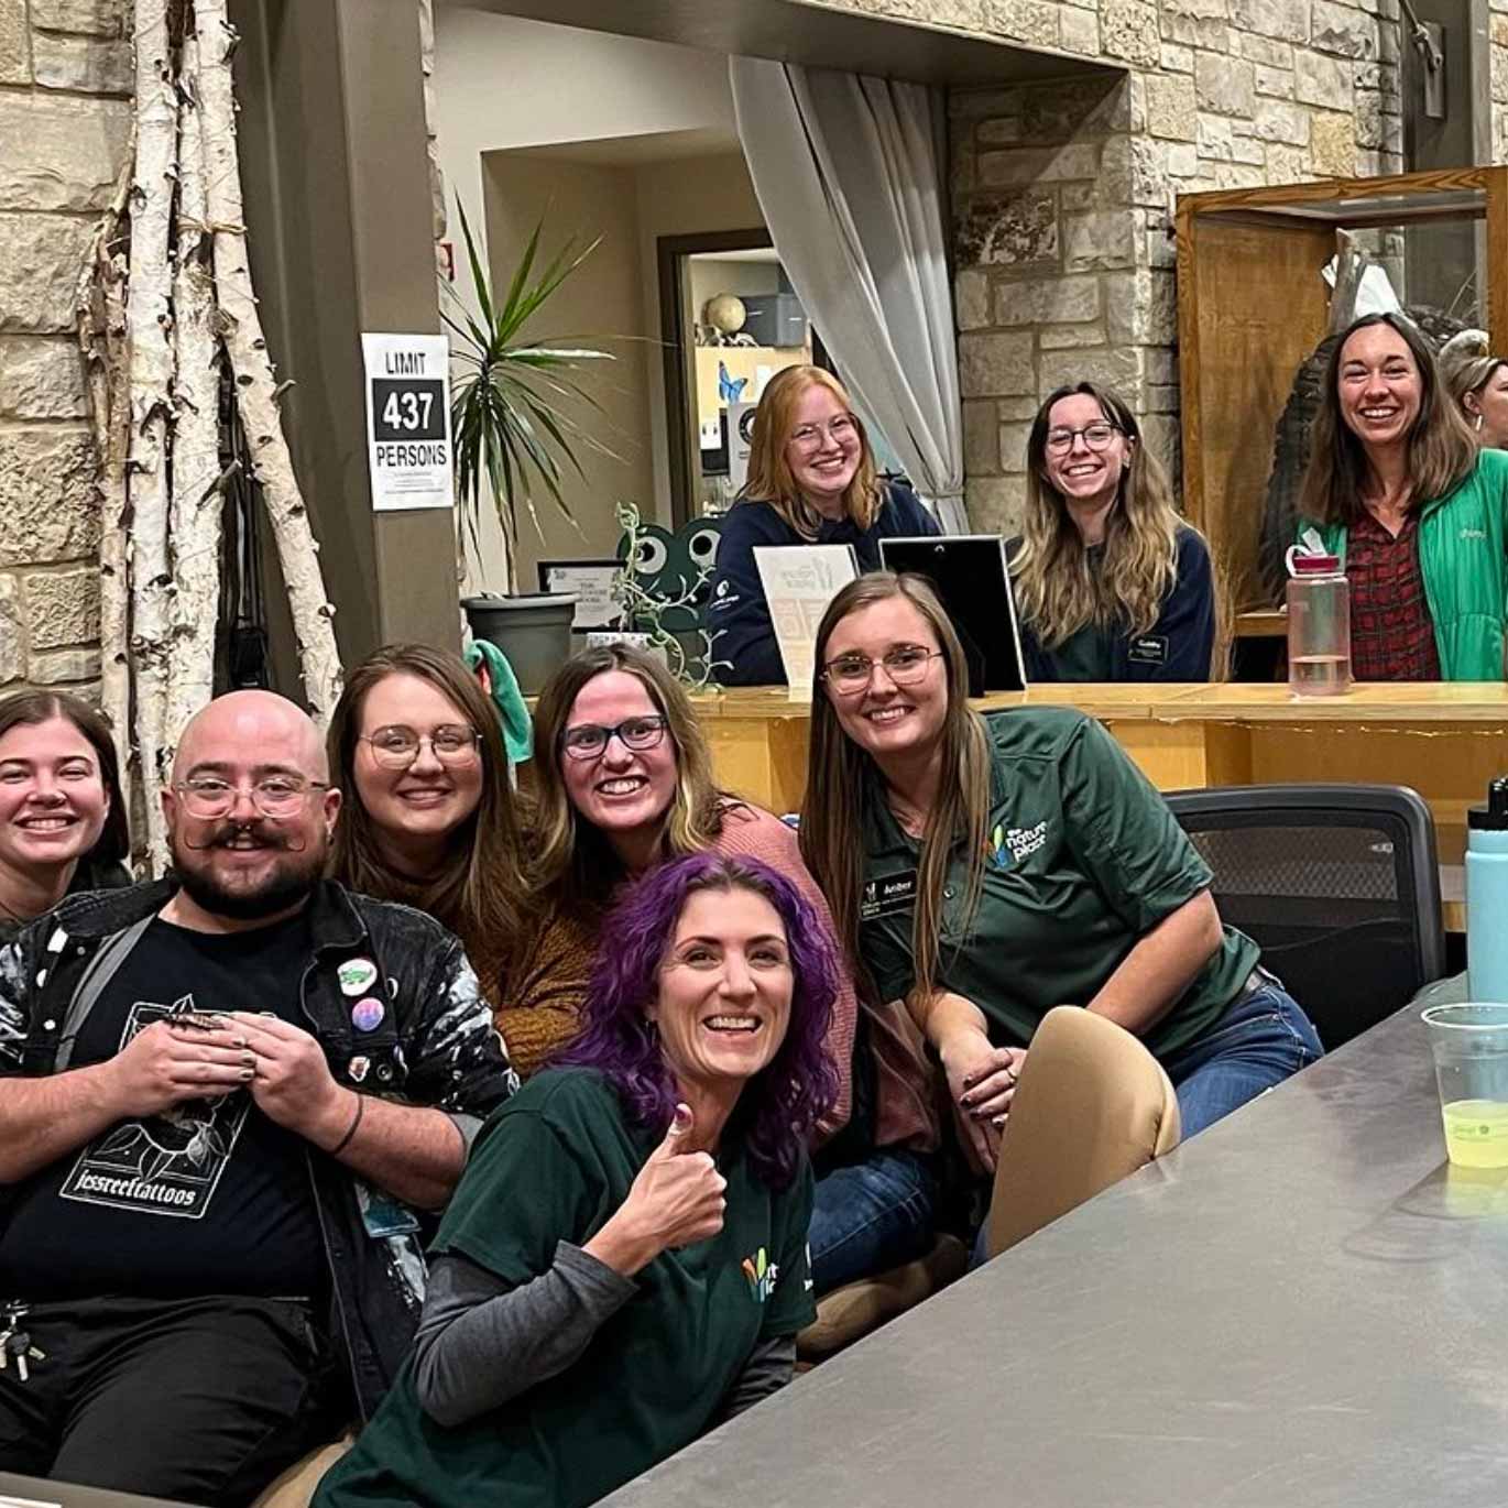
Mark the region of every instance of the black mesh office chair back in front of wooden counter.
<instances>
[{"instance_id":1,"label":"black mesh office chair back in front of wooden counter","mask_svg":"<svg viewBox=\"0 0 1508 1508\"><path fill-rule=\"evenodd\" d=\"M1229 786L1167 804L1214 870L1220 915L1327 1048L1445 973L1434 819L1404 786Z\"/></svg>"}]
</instances>

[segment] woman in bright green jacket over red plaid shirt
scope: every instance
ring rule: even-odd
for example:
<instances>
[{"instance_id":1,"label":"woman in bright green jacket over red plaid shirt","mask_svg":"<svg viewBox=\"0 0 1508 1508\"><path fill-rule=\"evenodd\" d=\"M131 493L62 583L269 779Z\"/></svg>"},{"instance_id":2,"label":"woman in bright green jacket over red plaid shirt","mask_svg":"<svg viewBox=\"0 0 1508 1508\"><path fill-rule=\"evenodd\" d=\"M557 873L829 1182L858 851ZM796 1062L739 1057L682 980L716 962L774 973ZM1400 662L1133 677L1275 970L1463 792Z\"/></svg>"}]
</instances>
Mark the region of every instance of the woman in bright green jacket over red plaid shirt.
<instances>
[{"instance_id":1,"label":"woman in bright green jacket over red plaid shirt","mask_svg":"<svg viewBox=\"0 0 1508 1508\"><path fill-rule=\"evenodd\" d=\"M1357 680L1502 680L1508 454L1478 451L1404 315L1336 342L1298 514L1350 579Z\"/></svg>"}]
</instances>

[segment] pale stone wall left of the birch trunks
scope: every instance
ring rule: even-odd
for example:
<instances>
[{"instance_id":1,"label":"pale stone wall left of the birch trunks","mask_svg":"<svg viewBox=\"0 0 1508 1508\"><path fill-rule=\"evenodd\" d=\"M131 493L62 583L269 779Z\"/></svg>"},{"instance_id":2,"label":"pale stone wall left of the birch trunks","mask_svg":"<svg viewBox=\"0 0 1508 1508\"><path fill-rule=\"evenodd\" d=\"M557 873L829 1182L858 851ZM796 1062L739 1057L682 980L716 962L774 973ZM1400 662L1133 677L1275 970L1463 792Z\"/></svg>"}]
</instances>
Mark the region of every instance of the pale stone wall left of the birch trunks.
<instances>
[{"instance_id":1,"label":"pale stone wall left of the birch trunks","mask_svg":"<svg viewBox=\"0 0 1508 1508\"><path fill-rule=\"evenodd\" d=\"M0 0L0 691L100 674L74 288L125 160L127 0Z\"/></svg>"}]
</instances>

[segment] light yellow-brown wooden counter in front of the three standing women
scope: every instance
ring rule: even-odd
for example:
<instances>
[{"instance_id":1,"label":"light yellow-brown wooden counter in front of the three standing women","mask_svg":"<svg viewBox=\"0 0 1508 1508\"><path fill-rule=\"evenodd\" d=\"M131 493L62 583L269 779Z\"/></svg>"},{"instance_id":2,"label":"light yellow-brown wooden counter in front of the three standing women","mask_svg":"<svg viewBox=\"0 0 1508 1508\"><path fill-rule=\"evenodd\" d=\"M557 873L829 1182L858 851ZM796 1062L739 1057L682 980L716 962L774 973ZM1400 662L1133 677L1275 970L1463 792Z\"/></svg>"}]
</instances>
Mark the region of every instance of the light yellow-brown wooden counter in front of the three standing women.
<instances>
[{"instance_id":1,"label":"light yellow-brown wooden counter in front of the three standing women","mask_svg":"<svg viewBox=\"0 0 1508 1508\"><path fill-rule=\"evenodd\" d=\"M783 688L692 700L718 781L772 811L799 810L810 706ZM1466 808L1508 772L1508 686L1374 683L1298 701L1271 685L1063 685L976 703L982 712L1022 704L1078 707L1099 718L1160 790L1288 781L1411 786L1439 829L1448 924L1463 926Z\"/></svg>"}]
</instances>

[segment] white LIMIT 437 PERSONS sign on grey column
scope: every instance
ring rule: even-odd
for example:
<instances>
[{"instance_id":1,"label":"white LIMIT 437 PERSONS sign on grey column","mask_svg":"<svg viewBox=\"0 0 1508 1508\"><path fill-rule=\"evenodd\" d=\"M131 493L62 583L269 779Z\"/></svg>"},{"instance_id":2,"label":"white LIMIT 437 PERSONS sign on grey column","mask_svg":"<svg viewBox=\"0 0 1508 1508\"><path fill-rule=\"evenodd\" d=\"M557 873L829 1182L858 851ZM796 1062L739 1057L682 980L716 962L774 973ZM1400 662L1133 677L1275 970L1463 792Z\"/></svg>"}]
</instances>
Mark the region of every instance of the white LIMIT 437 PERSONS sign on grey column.
<instances>
[{"instance_id":1,"label":"white LIMIT 437 PERSONS sign on grey column","mask_svg":"<svg viewBox=\"0 0 1508 1508\"><path fill-rule=\"evenodd\" d=\"M449 359L443 335L362 335L377 510L451 507Z\"/></svg>"}]
</instances>

